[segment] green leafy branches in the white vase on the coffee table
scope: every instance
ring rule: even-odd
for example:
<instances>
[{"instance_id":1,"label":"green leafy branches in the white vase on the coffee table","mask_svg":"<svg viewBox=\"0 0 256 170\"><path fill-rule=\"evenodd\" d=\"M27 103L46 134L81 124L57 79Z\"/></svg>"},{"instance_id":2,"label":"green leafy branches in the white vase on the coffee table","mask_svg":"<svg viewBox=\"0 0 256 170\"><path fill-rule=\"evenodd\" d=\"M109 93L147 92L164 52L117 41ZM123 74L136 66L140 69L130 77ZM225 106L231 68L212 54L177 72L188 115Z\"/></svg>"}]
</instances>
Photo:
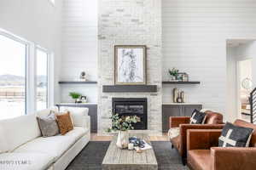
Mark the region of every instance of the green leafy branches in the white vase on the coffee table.
<instances>
[{"instance_id":1,"label":"green leafy branches in the white vase on the coffee table","mask_svg":"<svg viewBox=\"0 0 256 170\"><path fill-rule=\"evenodd\" d=\"M112 127L107 129L107 132L112 131L127 131L134 129L134 123L140 122L138 116L119 116L119 114L114 114L110 117L112 120Z\"/></svg>"}]
</instances>

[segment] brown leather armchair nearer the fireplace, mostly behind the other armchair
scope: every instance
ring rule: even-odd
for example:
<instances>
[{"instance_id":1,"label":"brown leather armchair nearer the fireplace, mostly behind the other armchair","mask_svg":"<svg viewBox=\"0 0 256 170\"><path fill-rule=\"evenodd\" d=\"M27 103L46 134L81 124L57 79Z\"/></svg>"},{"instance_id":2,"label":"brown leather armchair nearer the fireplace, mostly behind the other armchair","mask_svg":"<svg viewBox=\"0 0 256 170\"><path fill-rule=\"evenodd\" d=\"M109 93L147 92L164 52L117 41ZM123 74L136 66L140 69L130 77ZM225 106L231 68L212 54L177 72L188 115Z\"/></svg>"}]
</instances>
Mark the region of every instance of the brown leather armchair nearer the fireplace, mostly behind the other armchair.
<instances>
[{"instance_id":1,"label":"brown leather armchair nearer the fireplace, mostly behind the other armchair","mask_svg":"<svg viewBox=\"0 0 256 170\"><path fill-rule=\"evenodd\" d=\"M186 164L187 157L187 130L188 129L221 129L224 127L223 116L213 111L205 111L207 119L205 124L189 124L189 116L171 116L170 128L180 127L180 133L177 137L172 138L172 148L175 147L182 157L183 165Z\"/></svg>"}]
</instances>

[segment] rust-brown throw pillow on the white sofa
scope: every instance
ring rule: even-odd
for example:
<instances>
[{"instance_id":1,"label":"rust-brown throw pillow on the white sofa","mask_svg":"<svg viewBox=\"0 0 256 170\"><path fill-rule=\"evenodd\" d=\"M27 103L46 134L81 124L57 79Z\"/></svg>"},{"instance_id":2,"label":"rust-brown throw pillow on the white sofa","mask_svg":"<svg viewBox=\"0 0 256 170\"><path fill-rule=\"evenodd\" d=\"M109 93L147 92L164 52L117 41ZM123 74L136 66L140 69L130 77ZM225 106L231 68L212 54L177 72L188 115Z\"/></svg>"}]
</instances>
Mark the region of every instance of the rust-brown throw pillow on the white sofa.
<instances>
[{"instance_id":1,"label":"rust-brown throw pillow on the white sofa","mask_svg":"<svg viewBox=\"0 0 256 170\"><path fill-rule=\"evenodd\" d=\"M56 115L56 116L57 116L57 122L60 127L60 131L62 135L73 130L73 124L72 124L69 112L67 112L66 114Z\"/></svg>"}]
</instances>

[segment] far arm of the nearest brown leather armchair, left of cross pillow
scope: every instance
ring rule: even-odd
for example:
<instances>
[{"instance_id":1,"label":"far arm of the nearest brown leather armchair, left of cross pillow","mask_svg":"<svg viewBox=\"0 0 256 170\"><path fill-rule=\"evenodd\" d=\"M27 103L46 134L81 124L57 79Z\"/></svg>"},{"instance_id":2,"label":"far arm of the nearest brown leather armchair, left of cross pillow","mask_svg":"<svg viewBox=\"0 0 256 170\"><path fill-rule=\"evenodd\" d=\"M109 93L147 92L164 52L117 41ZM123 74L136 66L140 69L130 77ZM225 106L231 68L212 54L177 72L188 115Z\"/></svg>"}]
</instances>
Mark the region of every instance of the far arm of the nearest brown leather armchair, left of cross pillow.
<instances>
[{"instance_id":1,"label":"far arm of the nearest brown leather armchair, left of cross pillow","mask_svg":"<svg viewBox=\"0 0 256 170\"><path fill-rule=\"evenodd\" d=\"M218 146L218 137L221 129L190 129L187 135L188 150L209 150Z\"/></svg>"}]
</instances>

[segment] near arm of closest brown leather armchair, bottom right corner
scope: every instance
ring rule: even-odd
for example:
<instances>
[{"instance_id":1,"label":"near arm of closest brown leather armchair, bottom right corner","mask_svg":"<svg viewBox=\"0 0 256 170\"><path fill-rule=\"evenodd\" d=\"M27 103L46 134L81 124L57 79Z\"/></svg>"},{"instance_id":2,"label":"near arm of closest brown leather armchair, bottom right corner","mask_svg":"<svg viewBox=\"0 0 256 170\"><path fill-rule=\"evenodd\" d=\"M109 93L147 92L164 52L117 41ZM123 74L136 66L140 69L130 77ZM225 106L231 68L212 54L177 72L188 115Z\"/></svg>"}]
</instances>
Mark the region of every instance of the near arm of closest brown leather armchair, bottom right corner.
<instances>
[{"instance_id":1,"label":"near arm of closest brown leather armchair, bottom right corner","mask_svg":"<svg viewBox=\"0 0 256 170\"><path fill-rule=\"evenodd\" d=\"M212 169L252 170L256 167L256 148L213 147L211 148Z\"/></svg>"}]
</instances>

